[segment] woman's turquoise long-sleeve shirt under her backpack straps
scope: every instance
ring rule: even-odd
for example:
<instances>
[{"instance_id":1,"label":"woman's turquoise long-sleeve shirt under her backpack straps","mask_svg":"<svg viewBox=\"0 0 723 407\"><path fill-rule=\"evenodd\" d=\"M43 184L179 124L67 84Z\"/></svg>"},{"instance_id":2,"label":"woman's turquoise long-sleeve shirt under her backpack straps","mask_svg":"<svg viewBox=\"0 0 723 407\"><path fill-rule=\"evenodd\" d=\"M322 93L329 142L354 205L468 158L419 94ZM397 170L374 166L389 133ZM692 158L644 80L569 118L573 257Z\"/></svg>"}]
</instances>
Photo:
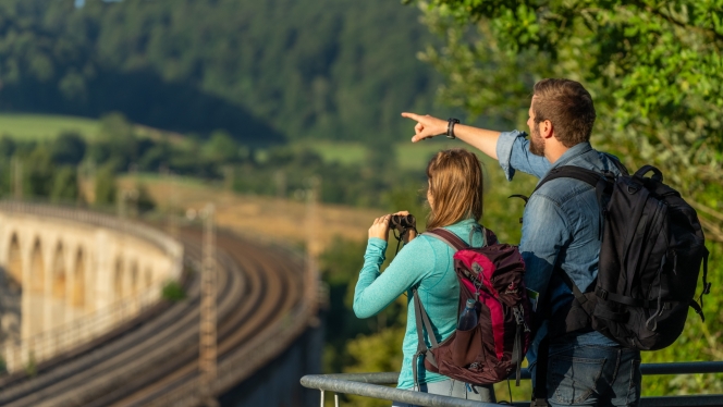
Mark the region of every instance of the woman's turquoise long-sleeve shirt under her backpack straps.
<instances>
[{"instance_id":1,"label":"woman's turquoise long-sleeve shirt under her backpack straps","mask_svg":"<svg viewBox=\"0 0 723 407\"><path fill-rule=\"evenodd\" d=\"M474 219L467 219L445 229L469 244L469 232L476 224ZM478 247L482 242L482 234L475 233L473 245ZM459 306L459 283L452 259L454 250L438 238L419 235L402 248L387 270L380 273L379 268L384 262L385 250L387 242L376 237L369 239L364 255L364 267L354 291L354 312L358 318L373 317L406 293L407 324L402 346L404 360L397 387L412 388L412 357L417 351L417 323L410 288L418 285L417 293L429 314L437 341L448 338L456 328ZM427 346L431 346L427 332L425 341ZM426 371L421 358L417 360L417 375L419 383L449 379Z\"/></svg>"}]
</instances>

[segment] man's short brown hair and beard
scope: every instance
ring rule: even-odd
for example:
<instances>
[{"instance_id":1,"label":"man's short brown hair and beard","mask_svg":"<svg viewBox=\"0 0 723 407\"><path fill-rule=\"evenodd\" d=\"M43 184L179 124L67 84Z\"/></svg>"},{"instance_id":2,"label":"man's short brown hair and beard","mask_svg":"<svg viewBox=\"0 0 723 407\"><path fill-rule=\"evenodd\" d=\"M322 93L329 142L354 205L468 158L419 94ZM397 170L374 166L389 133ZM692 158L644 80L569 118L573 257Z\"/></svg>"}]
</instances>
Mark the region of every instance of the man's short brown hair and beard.
<instances>
[{"instance_id":1,"label":"man's short brown hair and beard","mask_svg":"<svg viewBox=\"0 0 723 407\"><path fill-rule=\"evenodd\" d=\"M555 137L565 147L589 141L595 124L592 97L583 85L569 79L542 79L532 95L535 123L552 122Z\"/></svg>"}]
</instances>

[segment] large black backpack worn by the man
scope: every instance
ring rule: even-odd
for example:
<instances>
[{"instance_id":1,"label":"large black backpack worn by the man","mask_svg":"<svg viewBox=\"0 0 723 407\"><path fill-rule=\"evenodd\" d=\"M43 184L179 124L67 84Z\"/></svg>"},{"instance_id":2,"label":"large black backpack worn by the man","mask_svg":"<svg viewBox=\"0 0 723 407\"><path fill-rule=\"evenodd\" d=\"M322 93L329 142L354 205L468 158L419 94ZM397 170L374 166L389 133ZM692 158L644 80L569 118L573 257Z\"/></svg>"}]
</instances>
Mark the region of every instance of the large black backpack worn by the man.
<instances>
[{"instance_id":1,"label":"large black backpack worn by the man","mask_svg":"<svg viewBox=\"0 0 723 407\"><path fill-rule=\"evenodd\" d=\"M551 338L596 330L622 346L655 350L681 335L688 307L704 321L702 298L711 284L707 281L708 249L696 211L678 192L663 184L657 168L645 165L633 176L624 170L615 176L561 166L551 170L536 188L559 177L586 182L596 188L604 222L598 279L590 291L581 292L564 271L556 270L575 299L550 318ZM653 175L646 177L649 172ZM703 287L698 304L694 297L701 262Z\"/></svg>"}]
</instances>

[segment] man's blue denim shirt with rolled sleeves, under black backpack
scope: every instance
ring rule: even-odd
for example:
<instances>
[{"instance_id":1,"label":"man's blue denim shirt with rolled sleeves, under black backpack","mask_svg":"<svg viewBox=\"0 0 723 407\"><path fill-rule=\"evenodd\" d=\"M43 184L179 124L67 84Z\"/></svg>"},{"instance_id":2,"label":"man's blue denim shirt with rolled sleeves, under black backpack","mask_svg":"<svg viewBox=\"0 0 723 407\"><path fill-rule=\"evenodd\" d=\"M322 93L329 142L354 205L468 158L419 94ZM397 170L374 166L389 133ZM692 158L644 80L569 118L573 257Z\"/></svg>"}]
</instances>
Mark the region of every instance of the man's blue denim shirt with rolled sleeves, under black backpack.
<instances>
[{"instance_id":1,"label":"man's blue denim shirt with rolled sleeves, under black backpack","mask_svg":"<svg viewBox=\"0 0 723 407\"><path fill-rule=\"evenodd\" d=\"M502 133L497 145L500 166L508 181L515 171L543 178L553 169L563 165L581 166L595 171L618 174L612 158L580 143L565 151L554 163L529 151L526 134L513 131ZM526 264L525 284L540 298L549 296L554 313L573 300L572 291L555 274L557 264L581 291L586 291L598 276L602 218L595 188L574 178L555 178L542 185L530 198L523 214L523 237L519 250ZM542 310L538 310L542 311ZM534 366L537 346L547 334L542 325L536 336L527 360ZM615 346L614 341L598 332L589 332L567 340L575 344ZM567 346L555 344L551 347Z\"/></svg>"}]
</instances>

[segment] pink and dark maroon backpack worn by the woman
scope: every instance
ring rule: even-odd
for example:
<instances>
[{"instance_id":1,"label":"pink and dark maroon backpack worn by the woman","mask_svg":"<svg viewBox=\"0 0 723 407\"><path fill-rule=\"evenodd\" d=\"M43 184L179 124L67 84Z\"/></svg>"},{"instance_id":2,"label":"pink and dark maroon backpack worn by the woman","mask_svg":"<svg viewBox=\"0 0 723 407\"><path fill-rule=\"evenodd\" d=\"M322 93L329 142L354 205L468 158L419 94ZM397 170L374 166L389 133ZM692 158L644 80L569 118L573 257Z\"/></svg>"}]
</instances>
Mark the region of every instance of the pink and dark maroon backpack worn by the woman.
<instances>
[{"instance_id":1,"label":"pink and dark maroon backpack worn by the woman","mask_svg":"<svg viewBox=\"0 0 723 407\"><path fill-rule=\"evenodd\" d=\"M473 234L477 230L473 230ZM417 358L425 368L470 384L491 384L507 379L516 371L519 384L520 363L530 343L530 304L523 278L525 263L516 246L499 244L491 231L483 229L482 247L469 247L444 229L424 234L436 237L456 252L454 271L459 280L459 310L467 299L476 303L477 325L468 331L455 330L438 343L431 322L413 288L419 344L412 361L415 382ZM470 234L471 242L471 234ZM427 330L427 347L421 326Z\"/></svg>"}]
</instances>

